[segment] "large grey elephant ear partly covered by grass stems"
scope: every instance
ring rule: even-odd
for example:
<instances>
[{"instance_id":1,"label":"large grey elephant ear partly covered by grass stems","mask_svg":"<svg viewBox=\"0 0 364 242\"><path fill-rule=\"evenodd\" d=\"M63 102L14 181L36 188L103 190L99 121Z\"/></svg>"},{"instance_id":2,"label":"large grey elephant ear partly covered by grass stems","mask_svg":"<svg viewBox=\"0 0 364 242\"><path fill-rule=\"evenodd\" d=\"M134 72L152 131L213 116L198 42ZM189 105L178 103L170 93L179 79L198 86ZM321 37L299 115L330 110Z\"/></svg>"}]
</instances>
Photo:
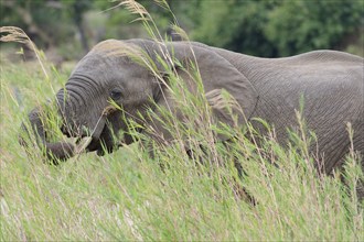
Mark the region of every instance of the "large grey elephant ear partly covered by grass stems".
<instances>
[{"instance_id":1,"label":"large grey elephant ear partly covered by grass stems","mask_svg":"<svg viewBox=\"0 0 364 242\"><path fill-rule=\"evenodd\" d=\"M228 125L245 123L254 112L258 95L250 81L236 69L228 61L223 58L208 46L186 42L171 43L167 46L169 53L179 63L193 63L199 68L204 86L205 96L212 108L216 122ZM193 85L191 73L185 69L175 68L181 79L188 81L188 86ZM192 70L193 72L193 70ZM195 88L190 87L193 91ZM169 99L160 100L158 105L173 107L174 101ZM179 112L176 112L179 116ZM160 127L156 128L160 130ZM164 138L171 136L163 132ZM218 140L229 138L218 135Z\"/></svg>"}]
</instances>

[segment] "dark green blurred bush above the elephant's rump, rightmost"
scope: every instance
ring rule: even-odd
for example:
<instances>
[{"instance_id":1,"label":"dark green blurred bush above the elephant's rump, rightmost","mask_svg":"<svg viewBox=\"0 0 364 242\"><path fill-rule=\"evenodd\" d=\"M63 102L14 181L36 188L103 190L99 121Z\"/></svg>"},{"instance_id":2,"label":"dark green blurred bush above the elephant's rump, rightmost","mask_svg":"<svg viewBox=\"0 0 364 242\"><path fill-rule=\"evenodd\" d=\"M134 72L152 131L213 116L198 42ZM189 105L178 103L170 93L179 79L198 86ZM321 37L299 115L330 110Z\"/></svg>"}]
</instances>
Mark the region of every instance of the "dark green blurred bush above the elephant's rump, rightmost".
<instances>
[{"instance_id":1,"label":"dark green blurred bush above the elephant's rump, rightmost","mask_svg":"<svg viewBox=\"0 0 364 242\"><path fill-rule=\"evenodd\" d=\"M279 55L288 56L335 48L345 35L363 28L363 15L362 1L282 1L268 12L264 31Z\"/></svg>"}]
</instances>

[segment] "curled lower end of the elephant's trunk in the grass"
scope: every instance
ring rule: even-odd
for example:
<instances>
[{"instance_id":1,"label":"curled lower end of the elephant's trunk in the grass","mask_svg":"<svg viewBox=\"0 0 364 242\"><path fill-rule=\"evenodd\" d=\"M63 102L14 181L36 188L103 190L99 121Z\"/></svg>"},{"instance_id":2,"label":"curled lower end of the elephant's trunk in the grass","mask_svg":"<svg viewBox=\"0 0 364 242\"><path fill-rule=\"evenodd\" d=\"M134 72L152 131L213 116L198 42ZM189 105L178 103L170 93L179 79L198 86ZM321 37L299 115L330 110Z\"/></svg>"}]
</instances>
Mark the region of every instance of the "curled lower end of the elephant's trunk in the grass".
<instances>
[{"instance_id":1,"label":"curled lower end of the elephant's trunk in the grass","mask_svg":"<svg viewBox=\"0 0 364 242\"><path fill-rule=\"evenodd\" d=\"M41 108L35 108L29 113L29 125L22 123L19 142L25 147L30 147L32 138L35 136L36 145L42 147L45 155L53 160L56 164L56 160L67 160L75 155L75 145L68 142L47 142L47 133L44 129L44 122L42 121ZM35 135L32 135L35 134Z\"/></svg>"}]
</instances>

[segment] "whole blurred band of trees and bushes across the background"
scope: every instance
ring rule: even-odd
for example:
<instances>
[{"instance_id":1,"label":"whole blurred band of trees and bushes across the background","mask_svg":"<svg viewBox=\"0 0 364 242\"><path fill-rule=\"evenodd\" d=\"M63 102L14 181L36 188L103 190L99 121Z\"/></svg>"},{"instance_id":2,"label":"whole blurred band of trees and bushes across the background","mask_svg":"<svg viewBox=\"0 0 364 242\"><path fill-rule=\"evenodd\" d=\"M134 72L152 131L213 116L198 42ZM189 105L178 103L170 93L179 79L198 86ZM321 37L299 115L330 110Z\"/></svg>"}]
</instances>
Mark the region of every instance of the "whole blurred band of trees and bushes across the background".
<instances>
[{"instance_id":1,"label":"whole blurred band of trees and bushes across the background","mask_svg":"<svg viewBox=\"0 0 364 242\"><path fill-rule=\"evenodd\" d=\"M171 14L146 7L167 33ZM169 0L191 40L265 57L318 48L363 56L362 0ZM79 58L105 38L147 37L119 2L107 0L1 0L1 25L22 28L42 50L56 47L64 59Z\"/></svg>"}]
</instances>

